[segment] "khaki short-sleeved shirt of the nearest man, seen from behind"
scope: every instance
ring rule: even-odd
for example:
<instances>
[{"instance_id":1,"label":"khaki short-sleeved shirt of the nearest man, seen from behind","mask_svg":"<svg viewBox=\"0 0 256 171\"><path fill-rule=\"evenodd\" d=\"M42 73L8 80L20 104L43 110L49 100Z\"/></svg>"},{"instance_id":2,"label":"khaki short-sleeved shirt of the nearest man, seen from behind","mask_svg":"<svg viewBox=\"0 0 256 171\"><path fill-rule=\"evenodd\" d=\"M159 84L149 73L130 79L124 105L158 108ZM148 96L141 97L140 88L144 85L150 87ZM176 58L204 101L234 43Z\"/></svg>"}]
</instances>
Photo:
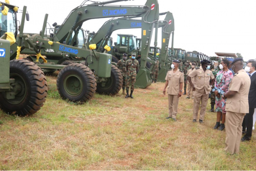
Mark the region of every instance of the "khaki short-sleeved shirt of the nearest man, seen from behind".
<instances>
[{"instance_id":1,"label":"khaki short-sleeved shirt of the nearest man, seen from behind","mask_svg":"<svg viewBox=\"0 0 256 171\"><path fill-rule=\"evenodd\" d=\"M242 69L234 74L228 91L236 91L237 93L226 100L226 111L234 113L249 113L248 94L250 90L251 80L248 74Z\"/></svg>"}]
</instances>

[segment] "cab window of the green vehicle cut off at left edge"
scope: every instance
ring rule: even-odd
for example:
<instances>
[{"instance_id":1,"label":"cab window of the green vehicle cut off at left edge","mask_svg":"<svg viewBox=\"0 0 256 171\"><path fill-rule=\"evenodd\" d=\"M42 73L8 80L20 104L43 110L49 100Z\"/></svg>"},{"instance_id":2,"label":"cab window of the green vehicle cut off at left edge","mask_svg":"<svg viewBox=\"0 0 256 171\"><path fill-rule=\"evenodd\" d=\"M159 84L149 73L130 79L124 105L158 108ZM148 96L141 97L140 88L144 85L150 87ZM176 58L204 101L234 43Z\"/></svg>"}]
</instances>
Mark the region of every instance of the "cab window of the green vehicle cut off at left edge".
<instances>
[{"instance_id":1,"label":"cab window of the green vehicle cut off at left edge","mask_svg":"<svg viewBox=\"0 0 256 171\"><path fill-rule=\"evenodd\" d=\"M6 32L13 32L15 35L16 31L16 12L13 9L9 9L7 15L2 14L2 9L0 8L0 29L1 36Z\"/></svg>"}]
</instances>

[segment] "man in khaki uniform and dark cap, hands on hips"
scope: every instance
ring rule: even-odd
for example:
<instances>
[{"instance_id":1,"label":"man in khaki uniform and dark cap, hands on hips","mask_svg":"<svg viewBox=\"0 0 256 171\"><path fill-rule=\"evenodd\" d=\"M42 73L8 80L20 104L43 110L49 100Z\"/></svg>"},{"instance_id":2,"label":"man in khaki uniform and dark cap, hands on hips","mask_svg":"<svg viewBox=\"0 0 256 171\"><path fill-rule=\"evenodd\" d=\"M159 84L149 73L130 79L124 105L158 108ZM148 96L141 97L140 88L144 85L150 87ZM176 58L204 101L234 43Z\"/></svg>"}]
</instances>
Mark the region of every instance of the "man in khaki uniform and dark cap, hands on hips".
<instances>
[{"instance_id":1,"label":"man in khaki uniform and dark cap, hands on hips","mask_svg":"<svg viewBox=\"0 0 256 171\"><path fill-rule=\"evenodd\" d=\"M193 88L194 92L194 112L193 112L193 122L197 121L199 105L201 101L201 111L199 122L202 123L204 120L204 115L206 111L206 106L209 98L209 92L211 91L212 84L214 84L215 77L210 71L210 61L204 59L201 61L202 66L199 69L193 70L188 76L187 80L190 86ZM193 84L191 78L195 77L195 82Z\"/></svg>"}]
</instances>

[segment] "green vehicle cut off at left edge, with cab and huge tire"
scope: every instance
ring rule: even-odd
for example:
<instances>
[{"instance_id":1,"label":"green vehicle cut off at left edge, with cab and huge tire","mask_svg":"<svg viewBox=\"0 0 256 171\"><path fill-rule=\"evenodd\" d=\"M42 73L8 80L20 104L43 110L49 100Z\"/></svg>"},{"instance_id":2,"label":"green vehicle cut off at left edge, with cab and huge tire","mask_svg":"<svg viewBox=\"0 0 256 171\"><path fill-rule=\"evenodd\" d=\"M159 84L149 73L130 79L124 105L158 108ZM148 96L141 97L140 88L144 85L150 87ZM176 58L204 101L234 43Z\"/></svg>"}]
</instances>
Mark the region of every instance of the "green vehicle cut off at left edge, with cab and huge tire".
<instances>
[{"instance_id":1,"label":"green vehicle cut off at left edge, with cab and huge tire","mask_svg":"<svg viewBox=\"0 0 256 171\"><path fill-rule=\"evenodd\" d=\"M0 6L0 109L10 115L29 116L39 111L46 101L46 77L33 62L10 60L10 46L17 37L18 7L3 2ZM26 6L20 30L24 28L25 18L29 20Z\"/></svg>"}]
</instances>

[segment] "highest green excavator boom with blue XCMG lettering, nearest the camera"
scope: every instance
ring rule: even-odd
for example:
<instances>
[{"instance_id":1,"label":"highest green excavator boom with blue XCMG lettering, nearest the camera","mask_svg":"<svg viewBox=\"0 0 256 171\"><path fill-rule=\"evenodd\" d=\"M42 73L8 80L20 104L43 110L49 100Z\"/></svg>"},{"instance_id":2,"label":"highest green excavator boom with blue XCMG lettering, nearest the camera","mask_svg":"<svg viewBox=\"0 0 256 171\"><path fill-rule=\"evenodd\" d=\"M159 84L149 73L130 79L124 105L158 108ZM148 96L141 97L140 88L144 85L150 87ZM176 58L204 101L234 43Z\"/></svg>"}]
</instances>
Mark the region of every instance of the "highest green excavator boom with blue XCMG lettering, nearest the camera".
<instances>
[{"instance_id":1,"label":"highest green excavator boom with blue XCMG lettering, nearest the camera","mask_svg":"<svg viewBox=\"0 0 256 171\"><path fill-rule=\"evenodd\" d=\"M157 0L147 0L144 6L117 6L109 5L110 3L121 2L108 1L103 3L81 4L73 9L64 22L58 28L53 36L53 41L59 41L68 45L72 33L81 27L89 19L123 17L123 16L142 16L148 15L152 7L158 10Z\"/></svg>"}]
</instances>

